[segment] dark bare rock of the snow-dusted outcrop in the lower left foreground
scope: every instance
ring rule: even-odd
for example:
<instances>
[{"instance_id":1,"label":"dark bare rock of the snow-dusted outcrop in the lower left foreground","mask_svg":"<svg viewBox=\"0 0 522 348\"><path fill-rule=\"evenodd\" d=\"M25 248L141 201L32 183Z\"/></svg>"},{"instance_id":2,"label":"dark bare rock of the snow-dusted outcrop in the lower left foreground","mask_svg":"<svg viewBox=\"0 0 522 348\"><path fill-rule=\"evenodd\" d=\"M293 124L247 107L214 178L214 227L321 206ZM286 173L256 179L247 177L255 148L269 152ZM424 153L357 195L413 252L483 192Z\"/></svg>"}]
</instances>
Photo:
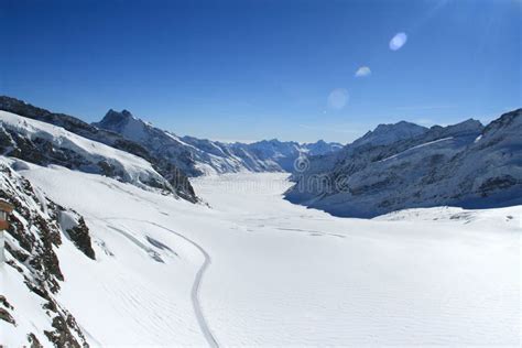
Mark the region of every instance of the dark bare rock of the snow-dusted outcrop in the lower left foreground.
<instances>
[{"instance_id":1,"label":"dark bare rock of the snow-dusted outcrop in the lower left foreground","mask_svg":"<svg viewBox=\"0 0 522 348\"><path fill-rule=\"evenodd\" d=\"M10 217L10 227L6 231L6 251L11 267L20 273L30 292L44 301L43 313L48 317L53 330L45 336L56 347L85 347L84 333L76 324L72 313L56 301L64 275L55 252L62 244L59 216L64 208L42 194L36 194L29 181L12 171L9 165L0 163L0 198L14 206ZM78 220L83 221L80 216ZM90 237L85 222L78 232L80 247L94 257ZM76 243L75 243L76 244ZM78 251L79 252L79 251ZM3 307L3 308L2 308ZM17 308L9 298L0 296L0 318L15 324L13 313ZM44 337L26 333L28 344L40 346Z\"/></svg>"}]
</instances>

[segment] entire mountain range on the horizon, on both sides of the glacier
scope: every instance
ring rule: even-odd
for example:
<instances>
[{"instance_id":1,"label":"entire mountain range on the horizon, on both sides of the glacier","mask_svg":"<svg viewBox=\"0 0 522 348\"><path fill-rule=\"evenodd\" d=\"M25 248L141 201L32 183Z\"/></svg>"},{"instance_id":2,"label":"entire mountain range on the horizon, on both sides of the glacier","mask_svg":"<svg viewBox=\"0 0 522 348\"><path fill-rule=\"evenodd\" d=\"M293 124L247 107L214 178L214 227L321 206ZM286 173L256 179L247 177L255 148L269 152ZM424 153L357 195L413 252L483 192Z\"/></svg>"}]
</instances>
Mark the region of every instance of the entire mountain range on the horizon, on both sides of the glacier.
<instances>
[{"instance_id":1,"label":"entire mountain range on the horizon, on both sides of the glacier","mask_svg":"<svg viewBox=\"0 0 522 348\"><path fill-rule=\"evenodd\" d=\"M472 119L432 128L380 124L345 146L178 137L127 110L109 110L89 124L9 97L0 97L0 110L7 111L0 113L0 154L111 176L193 203L198 198L191 176L291 172L295 185L286 199L339 216L522 204L522 109L486 127Z\"/></svg>"}]
</instances>

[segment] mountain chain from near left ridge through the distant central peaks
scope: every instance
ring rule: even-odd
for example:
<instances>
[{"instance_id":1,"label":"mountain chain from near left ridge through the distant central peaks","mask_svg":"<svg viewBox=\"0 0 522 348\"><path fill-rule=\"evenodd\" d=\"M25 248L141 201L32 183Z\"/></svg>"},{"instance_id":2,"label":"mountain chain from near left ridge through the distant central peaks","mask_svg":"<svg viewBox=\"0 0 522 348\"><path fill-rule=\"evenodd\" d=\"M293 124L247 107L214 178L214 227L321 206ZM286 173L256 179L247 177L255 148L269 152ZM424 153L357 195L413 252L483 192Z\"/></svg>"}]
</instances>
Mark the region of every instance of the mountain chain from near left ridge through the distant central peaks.
<instances>
[{"instance_id":1,"label":"mountain chain from near left ridge through the distant central peaks","mask_svg":"<svg viewBox=\"0 0 522 348\"><path fill-rule=\"evenodd\" d=\"M104 174L171 192L193 203L198 199L188 176L291 172L295 160L303 154L322 155L342 148L322 140L300 144L274 139L246 144L178 137L127 110L109 110L100 122L89 124L6 96L0 97L0 110L7 111L0 117L0 154L41 165L58 164ZM29 120L24 121L25 118ZM90 149L95 148L99 151L93 153ZM110 151L110 148L119 151ZM145 161L140 162L132 155Z\"/></svg>"}]
</instances>

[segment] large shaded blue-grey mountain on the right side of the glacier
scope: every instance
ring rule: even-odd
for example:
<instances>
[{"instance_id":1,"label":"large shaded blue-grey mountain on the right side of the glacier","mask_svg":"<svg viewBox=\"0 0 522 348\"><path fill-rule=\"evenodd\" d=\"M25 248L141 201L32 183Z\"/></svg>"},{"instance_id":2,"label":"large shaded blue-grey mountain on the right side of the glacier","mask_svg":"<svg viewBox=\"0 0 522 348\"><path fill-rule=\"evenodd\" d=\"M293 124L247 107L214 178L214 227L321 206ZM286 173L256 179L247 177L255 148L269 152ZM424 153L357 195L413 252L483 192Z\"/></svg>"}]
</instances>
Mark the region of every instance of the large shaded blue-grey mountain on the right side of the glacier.
<instances>
[{"instance_id":1,"label":"large shaded blue-grey mountain on the right side of the glacier","mask_svg":"<svg viewBox=\"0 0 522 348\"><path fill-rule=\"evenodd\" d=\"M286 198L365 218L414 207L520 204L521 115L502 115L486 128L476 120L431 129L379 126L334 155L311 157Z\"/></svg>"}]
</instances>

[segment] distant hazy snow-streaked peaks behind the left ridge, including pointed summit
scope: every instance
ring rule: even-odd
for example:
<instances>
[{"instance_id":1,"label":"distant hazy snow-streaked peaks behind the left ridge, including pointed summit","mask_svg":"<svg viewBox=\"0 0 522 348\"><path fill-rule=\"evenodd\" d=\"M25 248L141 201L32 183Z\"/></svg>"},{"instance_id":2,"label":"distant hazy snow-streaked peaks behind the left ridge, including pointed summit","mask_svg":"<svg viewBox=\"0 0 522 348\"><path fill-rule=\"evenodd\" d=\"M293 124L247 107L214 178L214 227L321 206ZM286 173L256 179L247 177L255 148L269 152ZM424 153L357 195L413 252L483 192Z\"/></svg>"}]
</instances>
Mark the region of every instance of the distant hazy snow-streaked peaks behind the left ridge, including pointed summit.
<instances>
[{"instance_id":1,"label":"distant hazy snow-streaked peaks behind the left ridge, including pointed summit","mask_svg":"<svg viewBox=\"0 0 522 348\"><path fill-rule=\"evenodd\" d=\"M121 134L148 149L155 156L173 163L189 176L237 172L291 172L302 154L325 154L341 148L318 141L311 144L276 139L251 144L224 143L194 137L178 137L135 118L128 110L109 110L96 128Z\"/></svg>"}]
</instances>

